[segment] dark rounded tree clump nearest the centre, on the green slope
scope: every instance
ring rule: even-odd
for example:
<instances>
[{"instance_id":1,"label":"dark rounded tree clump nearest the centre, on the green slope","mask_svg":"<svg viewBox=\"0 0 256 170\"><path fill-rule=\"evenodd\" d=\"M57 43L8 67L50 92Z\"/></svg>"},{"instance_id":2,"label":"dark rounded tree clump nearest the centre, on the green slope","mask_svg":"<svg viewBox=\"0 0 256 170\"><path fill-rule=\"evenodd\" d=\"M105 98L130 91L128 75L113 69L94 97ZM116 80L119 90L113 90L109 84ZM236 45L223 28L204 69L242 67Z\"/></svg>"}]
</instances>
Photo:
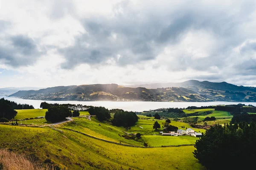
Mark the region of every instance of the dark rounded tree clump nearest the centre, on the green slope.
<instances>
[{"instance_id":1,"label":"dark rounded tree clump nearest the centre, on the green slope","mask_svg":"<svg viewBox=\"0 0 256 170\"><path fill-rule=\"evenodd\" d=\"M114 114L112 124L115 126L130 127L135 125L138 121L138 116L134 112L128 111L116 111Z\"/></svg>"}]
</instances>

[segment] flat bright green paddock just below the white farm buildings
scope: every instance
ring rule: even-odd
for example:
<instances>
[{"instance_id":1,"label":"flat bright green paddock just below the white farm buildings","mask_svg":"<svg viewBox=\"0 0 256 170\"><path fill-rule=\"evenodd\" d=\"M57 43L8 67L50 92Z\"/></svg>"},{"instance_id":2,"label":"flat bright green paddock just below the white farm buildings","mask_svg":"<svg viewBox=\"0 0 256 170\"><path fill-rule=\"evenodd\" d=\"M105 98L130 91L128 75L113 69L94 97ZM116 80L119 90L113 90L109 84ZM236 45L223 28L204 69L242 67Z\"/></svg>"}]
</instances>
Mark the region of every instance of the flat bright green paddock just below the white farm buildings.
<instances>
[{"instance_id":1,"label":"flat bright green paddock just below the white farm buildings","mask_svg":"<svg viewBox=\"0 0 256 170\"><path fill-rule=\"evenodd\" d=\"M146 135L142 136L148 146L161 147L170 145L181 145L181 144L195 144L195 136L160 136L160 135Z\"/></svg>"}]
</instances>

